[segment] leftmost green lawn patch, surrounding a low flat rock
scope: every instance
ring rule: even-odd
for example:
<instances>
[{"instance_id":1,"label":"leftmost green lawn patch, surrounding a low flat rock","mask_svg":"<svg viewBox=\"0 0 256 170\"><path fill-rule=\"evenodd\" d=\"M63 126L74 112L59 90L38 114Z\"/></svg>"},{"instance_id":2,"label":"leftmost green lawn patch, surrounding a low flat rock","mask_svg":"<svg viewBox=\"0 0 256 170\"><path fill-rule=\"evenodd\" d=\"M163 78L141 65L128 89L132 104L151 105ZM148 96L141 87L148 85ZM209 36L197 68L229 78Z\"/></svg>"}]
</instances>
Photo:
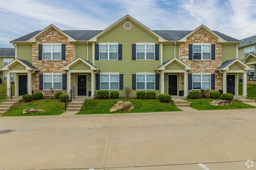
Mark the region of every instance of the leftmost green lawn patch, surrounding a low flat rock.
<instances>
[{"instance_id":1,"label":"leftmost green lawn patch, surrounding a low flat rock","mask_svg":"<svg viewBox=\"0 0 256 170\"><path fill-rule=\"evenodd\" d=\"M43 109L44 113L23 114L23 109L35 108ZM57 99L40 99L31 102L21 101L17 106L11 108L4 116L46 116L59 115L65 112L65 102Z\"/></svg>"}]
</instances>

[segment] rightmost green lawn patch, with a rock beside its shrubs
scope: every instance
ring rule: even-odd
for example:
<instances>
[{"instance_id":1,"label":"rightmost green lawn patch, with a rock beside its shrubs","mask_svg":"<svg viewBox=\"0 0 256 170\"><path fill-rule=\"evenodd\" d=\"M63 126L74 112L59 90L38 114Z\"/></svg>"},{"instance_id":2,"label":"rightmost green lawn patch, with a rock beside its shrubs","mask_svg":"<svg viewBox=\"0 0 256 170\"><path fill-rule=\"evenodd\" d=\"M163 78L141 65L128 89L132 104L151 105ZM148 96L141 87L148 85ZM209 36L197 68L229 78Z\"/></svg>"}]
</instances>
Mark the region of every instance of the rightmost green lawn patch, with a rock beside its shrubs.
<instances>
[{"instance_id":1,"label":"rightmost green lawn patch, with a rock beside its shrubs","mask_svg":"<svg viewBox=\"0 0 256 170\"><path fill-rule=\"evenodd\" d=\"M250 109L256 108L254 106L250 106L247 104L239 103L237 101L232 101L232 105L229 106L213 106L209 103L213 100L220 100L220 99L186 99L187 101L191 102L190 107L196 110L227 110L227 109Z\"/></svg>"}]
</instances>

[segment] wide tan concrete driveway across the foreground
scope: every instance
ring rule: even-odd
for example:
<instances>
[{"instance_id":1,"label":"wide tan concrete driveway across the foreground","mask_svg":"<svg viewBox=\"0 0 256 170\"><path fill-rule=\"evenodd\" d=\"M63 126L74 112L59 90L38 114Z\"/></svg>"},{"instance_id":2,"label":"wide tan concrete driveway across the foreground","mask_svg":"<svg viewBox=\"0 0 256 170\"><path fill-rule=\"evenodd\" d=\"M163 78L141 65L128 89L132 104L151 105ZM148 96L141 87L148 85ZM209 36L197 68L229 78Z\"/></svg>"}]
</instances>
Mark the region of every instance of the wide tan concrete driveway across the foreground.
<instances>
[{"instance_id":1,"label":"wide tan concrete driveway across the foreground","mask_svg":"<svg viewBox=\"0 0 256 170\"><path fill-rule=\"evenodd\" d=\"M233 170L256 160L256 109L1 117L7 129L0 169Z\"/></svg>"}]
</instances>

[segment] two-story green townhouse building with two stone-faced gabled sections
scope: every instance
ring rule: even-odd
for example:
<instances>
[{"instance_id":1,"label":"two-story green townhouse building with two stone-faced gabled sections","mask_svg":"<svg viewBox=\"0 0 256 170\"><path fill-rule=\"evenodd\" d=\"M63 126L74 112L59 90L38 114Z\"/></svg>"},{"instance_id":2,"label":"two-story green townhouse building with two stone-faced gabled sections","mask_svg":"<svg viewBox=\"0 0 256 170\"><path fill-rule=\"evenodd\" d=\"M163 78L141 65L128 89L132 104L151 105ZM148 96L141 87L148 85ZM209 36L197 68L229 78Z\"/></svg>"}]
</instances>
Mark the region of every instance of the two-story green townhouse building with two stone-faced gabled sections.
<instances>
[{"instance_id":1,"label":"two-story green townhouse building with two stone-faced gabled sections","mask_svg":"<svg viewBox=\"0 0 256 170\"><path fill-rule=\"evenodd\" d=\"M184 90L187 97L201 88L238 95L238 73L246 77L251 69L238 59L240 40L204 25L193 31L152 31L129 15L103 31L50 25L10 43L17 56L2 70L8 80L15 74L16 95L33 90L47 96L51 87L64 93L75 87L75 95L116 90L124 97L126 86L131 97L142 90L157 96Z\"/></svg>"}]
</instances>

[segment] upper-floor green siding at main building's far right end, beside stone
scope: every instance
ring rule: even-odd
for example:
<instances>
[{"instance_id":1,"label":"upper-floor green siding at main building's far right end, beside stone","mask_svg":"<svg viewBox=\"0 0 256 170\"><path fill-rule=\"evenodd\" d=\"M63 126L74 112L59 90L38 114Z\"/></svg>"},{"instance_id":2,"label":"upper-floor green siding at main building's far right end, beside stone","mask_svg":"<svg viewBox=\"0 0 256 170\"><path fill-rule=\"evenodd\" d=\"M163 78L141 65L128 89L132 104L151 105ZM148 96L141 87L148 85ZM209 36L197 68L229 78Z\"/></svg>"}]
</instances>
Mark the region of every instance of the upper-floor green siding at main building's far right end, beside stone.
<instances>
[{"instance_id":1,"label":"upper-floor green siding at main building's far right end, beside stone","mask_svg":"<svg viewBox=\"0 0 256 170\"><path fill-rule=\"evenodd\" d=\"M228 60L237 58L237 45L221 45L221 62L224 63Z\"/></svg>"}]
</instances>

